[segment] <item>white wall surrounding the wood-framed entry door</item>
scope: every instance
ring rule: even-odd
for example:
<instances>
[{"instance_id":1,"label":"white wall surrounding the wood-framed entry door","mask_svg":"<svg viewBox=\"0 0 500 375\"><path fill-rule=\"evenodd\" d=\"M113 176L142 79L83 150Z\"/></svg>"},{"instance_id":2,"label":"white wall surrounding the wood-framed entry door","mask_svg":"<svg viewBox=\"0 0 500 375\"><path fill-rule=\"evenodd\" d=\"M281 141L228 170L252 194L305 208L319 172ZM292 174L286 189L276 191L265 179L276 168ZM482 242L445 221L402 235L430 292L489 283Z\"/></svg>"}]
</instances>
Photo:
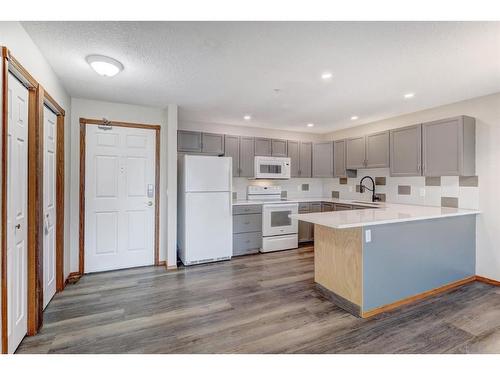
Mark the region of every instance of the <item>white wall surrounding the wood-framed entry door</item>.
<instances>
[{"instance_id":1,"label":"white wall surrounding the wood-framed entry door","mask_svg":"<svg viewBox=\"0 0 500 375\"><path fill-rule=\"evenodd\" d=\"M136 122L151 125L160 125L160 261L167 259L168 227L167 227L167 175L169 165L167 146L169 126L176 129L177 116L169 116L171 109L176 113L176 106L169 106L169 110L136 106L129 104L110 103L87 99L71 99L71 217L70 217L70 248L71 272L78 271L78 235L79 235L79 184L80 184L80 118L102 119L114 121ZM170 123L169 123L170 121ZM174 171L175 174L177 171ZM172 173L172 171L170 171ZM175 192L170 198L176 199ZM175 203L174 203L175 204ZM173 239L175 241L175 237ZM170 245L171 247L171 245ZM175 261L175 255L168 254L169 265ZM173 258L172 258L173 257Z\"/></svg>"}]
</instances>

